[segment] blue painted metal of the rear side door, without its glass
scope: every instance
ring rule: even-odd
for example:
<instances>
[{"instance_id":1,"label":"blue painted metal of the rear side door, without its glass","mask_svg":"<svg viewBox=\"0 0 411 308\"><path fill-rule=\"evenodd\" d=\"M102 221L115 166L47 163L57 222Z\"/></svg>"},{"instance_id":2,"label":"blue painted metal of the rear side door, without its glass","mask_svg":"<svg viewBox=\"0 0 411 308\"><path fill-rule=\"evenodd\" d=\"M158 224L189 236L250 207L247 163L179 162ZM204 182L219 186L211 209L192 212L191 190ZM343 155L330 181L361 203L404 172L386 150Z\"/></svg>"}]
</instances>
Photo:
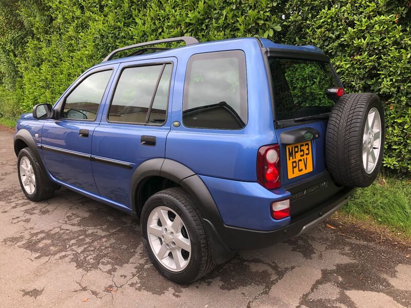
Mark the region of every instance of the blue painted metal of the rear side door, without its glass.
<instances>
[{"instance_id":1,"label":"blue painted metal of the rear side door, without its glass","mask_svg":"<svg viewBox=\"0 0 411 308\"><path fill-rule=\"evenodd\" d=\"M129 61L120 65L117 75L120 75L124 66L140 65L158 62L155 60ZM161 61L173 62L172 81L175 78L177 58L167 57ZM118 76L116 76L118 78ZM174 83L171 83L170 92L173 93ZM169 100L170 115L172 97ZM171 117L167 117L163 126L144 126L138 124L107 123L109 104L104 106L101 124L94 131L92 154L98 157L116 159L132 164L132 169L107 165L101 162L92 162L96 185L102 197L132 206L130 199L130 181L136 168L148 159L163 158L165 153L165 140L170 131ZM141 145L141 136L155 136L156 146ZM123 149L123 150L119 150Z\"/></svg>"}]
</instances>

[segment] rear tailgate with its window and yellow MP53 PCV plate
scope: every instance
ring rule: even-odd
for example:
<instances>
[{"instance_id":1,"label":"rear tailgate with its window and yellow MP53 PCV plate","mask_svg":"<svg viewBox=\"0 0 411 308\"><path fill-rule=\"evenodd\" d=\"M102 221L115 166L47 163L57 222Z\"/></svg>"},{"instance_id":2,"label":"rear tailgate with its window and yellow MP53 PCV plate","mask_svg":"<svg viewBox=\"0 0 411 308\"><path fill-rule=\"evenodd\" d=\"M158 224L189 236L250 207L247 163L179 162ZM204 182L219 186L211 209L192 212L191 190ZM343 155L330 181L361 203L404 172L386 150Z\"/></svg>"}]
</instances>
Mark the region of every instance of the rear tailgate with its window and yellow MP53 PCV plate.
<instances>
[{"instance_id":1,"label":"rear tailgate with its window and yellow MP53 PCV plate","mask_svg":"<svg viewBox=\"0 0 411 308\"><path fill-rule=\"evenodd\" d=\"M341 87L328 57L315 60L268 57L274 94L275 133L281 151L281 184L291 192L291 217L338 194L325 165L325 134L334 98Z\"/></svg>"}]
</instances>

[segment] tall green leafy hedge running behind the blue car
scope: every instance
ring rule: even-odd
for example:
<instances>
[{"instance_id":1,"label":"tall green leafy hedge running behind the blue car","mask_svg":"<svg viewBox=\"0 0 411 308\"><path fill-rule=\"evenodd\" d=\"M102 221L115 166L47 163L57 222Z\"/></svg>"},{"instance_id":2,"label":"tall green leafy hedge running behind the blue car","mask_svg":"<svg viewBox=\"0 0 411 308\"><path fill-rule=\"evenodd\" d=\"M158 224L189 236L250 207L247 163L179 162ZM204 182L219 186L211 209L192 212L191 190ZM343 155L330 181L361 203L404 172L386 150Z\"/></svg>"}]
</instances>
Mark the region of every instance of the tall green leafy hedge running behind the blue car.
<instances>
[{"instance_id":1,"label":"tall green leafy hedge running behind the blue car","mask_svg":"<svg viewBox=\"0 0 411 308\"><path fill-rule=\"evenodd\" d=\"M0 117L53 103L86 68L136 42L256 35L330 55L348 91L386 107L384 165L411 172L411 2L0 0Z\"/></svg>"}]
</instances>

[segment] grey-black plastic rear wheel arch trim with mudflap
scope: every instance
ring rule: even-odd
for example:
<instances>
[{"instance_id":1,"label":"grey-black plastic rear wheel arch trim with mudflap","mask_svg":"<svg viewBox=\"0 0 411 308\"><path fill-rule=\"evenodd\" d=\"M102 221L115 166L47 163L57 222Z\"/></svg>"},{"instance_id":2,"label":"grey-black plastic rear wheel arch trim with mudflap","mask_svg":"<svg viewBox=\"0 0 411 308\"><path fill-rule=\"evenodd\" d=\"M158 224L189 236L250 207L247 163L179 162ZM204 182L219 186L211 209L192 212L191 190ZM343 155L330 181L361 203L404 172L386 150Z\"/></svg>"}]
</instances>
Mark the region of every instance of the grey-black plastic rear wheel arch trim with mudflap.
<instances>
[{"instance_id":1,"label":"grey-black plastic rear wheel arch trim with mudflap","mask_svg":"<svg viewBox=\"0 0 411 308\"><path fill-rule=\"evenodd\" d=\"M137 214L139 211L136 192L139 193L139 187L142 186L144 180L152 176L161 176L172 180L189 192L203 216L203 225L206 228L211 253L216 264L221 264L236 254L226 245L217 232L215 226L220 227L223 222L206 184L193 170L176 161L157 158L145 161L137 167L130 187L132 189L130 196L134 213Z\"/></svg>"}]
</instances>

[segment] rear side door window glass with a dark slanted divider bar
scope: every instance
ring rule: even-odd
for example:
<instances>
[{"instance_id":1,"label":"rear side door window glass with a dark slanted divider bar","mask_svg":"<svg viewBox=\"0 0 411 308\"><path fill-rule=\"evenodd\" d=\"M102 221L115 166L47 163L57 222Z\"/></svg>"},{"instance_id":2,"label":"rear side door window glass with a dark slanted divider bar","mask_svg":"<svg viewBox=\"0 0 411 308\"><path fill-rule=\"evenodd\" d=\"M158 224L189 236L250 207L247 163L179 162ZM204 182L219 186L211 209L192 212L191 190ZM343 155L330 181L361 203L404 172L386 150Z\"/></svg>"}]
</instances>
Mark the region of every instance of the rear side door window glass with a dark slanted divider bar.
<instances>
[{"instance_id":1,"label":"rear side door window glass with a dark slanted divider bar","mask_svg":"<svg viewBox=\"0 0 411 308\"><path fill-rule=\"evenodd\" d=\"M169 100L171 64L125 68L118 81L108 120L163 124Z\"/></svg>"}]
</instances>

